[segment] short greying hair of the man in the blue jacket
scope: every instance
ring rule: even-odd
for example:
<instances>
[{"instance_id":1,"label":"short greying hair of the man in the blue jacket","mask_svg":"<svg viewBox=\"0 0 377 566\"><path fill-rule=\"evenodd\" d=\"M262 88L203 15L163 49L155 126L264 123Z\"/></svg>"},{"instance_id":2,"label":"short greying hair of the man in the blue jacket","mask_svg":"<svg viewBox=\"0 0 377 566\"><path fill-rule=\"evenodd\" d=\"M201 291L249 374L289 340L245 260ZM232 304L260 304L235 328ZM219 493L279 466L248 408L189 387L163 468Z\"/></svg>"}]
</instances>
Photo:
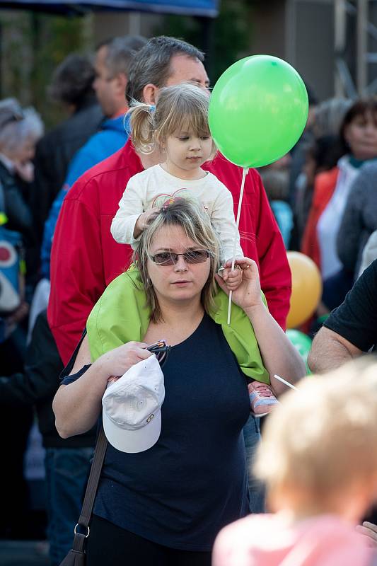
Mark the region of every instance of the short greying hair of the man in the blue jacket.
<instances>
[{"instance_id":1,"label":"short greying hair of the man in the blue jacket","mask_svg":"<svg viewBox=\"0 0 377 566\"><path fill-rule=\"evenodd\" d=\"M107 47L105 66L110 77L115 77L120 73L128 76L134 54L144 45L146 45L146 38L141 37L141 35L115 37L112 41L105 44L105 47Z\"/></svg>"}]
</instances>

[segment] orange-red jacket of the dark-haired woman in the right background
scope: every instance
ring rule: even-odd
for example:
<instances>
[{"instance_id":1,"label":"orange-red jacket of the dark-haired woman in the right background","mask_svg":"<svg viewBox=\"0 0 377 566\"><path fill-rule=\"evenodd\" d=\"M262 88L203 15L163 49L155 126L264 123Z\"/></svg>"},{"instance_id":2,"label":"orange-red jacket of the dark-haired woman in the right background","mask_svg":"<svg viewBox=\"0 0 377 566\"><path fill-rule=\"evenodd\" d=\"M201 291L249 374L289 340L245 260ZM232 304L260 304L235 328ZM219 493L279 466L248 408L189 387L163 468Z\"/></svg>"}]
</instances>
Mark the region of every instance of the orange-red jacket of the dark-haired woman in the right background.
<instances>
[{"instance_id":1,"label":"orange-red jacket of the dark-haired woman in the right background","mask_svg":"<svg viewBox=\"0 0 377 566\"><path fill-rule=\"evenodd\" d=\"M330 202L337 186L339 169L334 167L330 171L318 173L314 180L314 192L311 209L303 233L301 252L305 253L316 263L320 270L320 244L317 236L317 225L323 211Z\"/></svg>"}]
</instances>

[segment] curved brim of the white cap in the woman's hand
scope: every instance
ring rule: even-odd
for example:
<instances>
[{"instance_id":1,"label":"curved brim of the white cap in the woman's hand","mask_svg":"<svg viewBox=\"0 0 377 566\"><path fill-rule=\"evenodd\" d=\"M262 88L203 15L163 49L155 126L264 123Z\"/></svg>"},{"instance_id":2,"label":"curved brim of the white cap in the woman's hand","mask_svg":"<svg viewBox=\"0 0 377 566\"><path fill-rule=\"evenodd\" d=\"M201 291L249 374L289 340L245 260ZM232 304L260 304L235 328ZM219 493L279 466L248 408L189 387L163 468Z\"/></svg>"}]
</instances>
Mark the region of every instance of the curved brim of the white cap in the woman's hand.
<instances>
[{"instance_id":1,"label":"curved brim of the white cap in the woman's hand","mask_svg":"<svg viewBox=\"0 0 377 566\"><path fill-rule=\"evenodd\" d=\"M156 442L161 434L161 410L156 412L153 419L137 430L126 430L118 427L105 411L102 412L103 416L103 430L105 436L114 448L121 452L128 454L135 454L136 452L144 452L150 449Z\"/></svg>"}]
</instances>

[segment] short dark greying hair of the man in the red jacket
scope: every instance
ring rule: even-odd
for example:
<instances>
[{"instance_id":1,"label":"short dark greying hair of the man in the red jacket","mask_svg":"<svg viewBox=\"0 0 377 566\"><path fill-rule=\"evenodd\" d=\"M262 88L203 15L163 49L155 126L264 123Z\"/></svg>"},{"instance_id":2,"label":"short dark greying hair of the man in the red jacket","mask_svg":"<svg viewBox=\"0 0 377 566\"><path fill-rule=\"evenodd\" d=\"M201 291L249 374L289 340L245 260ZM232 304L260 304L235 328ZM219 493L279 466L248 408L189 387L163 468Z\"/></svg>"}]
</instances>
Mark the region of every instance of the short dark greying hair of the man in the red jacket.
<instances>
[{"instance_id":1,"label":"short dark greying hair of the man in the red jacket","mask_svg":"<svg viewBox=\"0 0 377 566\"><path fill-rule=\"evenodd\" d=\"M204 61L204 54L197 47L175 37L160 35L152 37L142 47L129 67L126 97L142 101L144 86L149 83L158 88L166 86L170 76L170 60L174 55L186 55Z\"/></svg>"}]
</instances>

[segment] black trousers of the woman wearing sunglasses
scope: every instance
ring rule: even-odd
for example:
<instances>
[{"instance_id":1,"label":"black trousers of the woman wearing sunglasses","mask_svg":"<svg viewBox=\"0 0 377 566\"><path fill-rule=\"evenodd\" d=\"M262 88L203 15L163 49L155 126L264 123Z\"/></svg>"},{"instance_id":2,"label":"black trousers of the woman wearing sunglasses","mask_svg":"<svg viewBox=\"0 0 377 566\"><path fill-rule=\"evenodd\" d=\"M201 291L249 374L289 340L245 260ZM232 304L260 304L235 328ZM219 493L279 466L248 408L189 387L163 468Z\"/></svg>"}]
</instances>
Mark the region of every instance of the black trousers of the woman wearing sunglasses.
<instances>
[{"instance_id":1,"label":"black trousers of the woman wearing sunglasses","mask_svg":"<svg viewBox=\"0 0 377 566\"><path fill-rule=\"evenodd\" d=\"M211 566L210 552L176 550L93 515L86 546L86 566Z\"/></svg>"}]
</instances>

